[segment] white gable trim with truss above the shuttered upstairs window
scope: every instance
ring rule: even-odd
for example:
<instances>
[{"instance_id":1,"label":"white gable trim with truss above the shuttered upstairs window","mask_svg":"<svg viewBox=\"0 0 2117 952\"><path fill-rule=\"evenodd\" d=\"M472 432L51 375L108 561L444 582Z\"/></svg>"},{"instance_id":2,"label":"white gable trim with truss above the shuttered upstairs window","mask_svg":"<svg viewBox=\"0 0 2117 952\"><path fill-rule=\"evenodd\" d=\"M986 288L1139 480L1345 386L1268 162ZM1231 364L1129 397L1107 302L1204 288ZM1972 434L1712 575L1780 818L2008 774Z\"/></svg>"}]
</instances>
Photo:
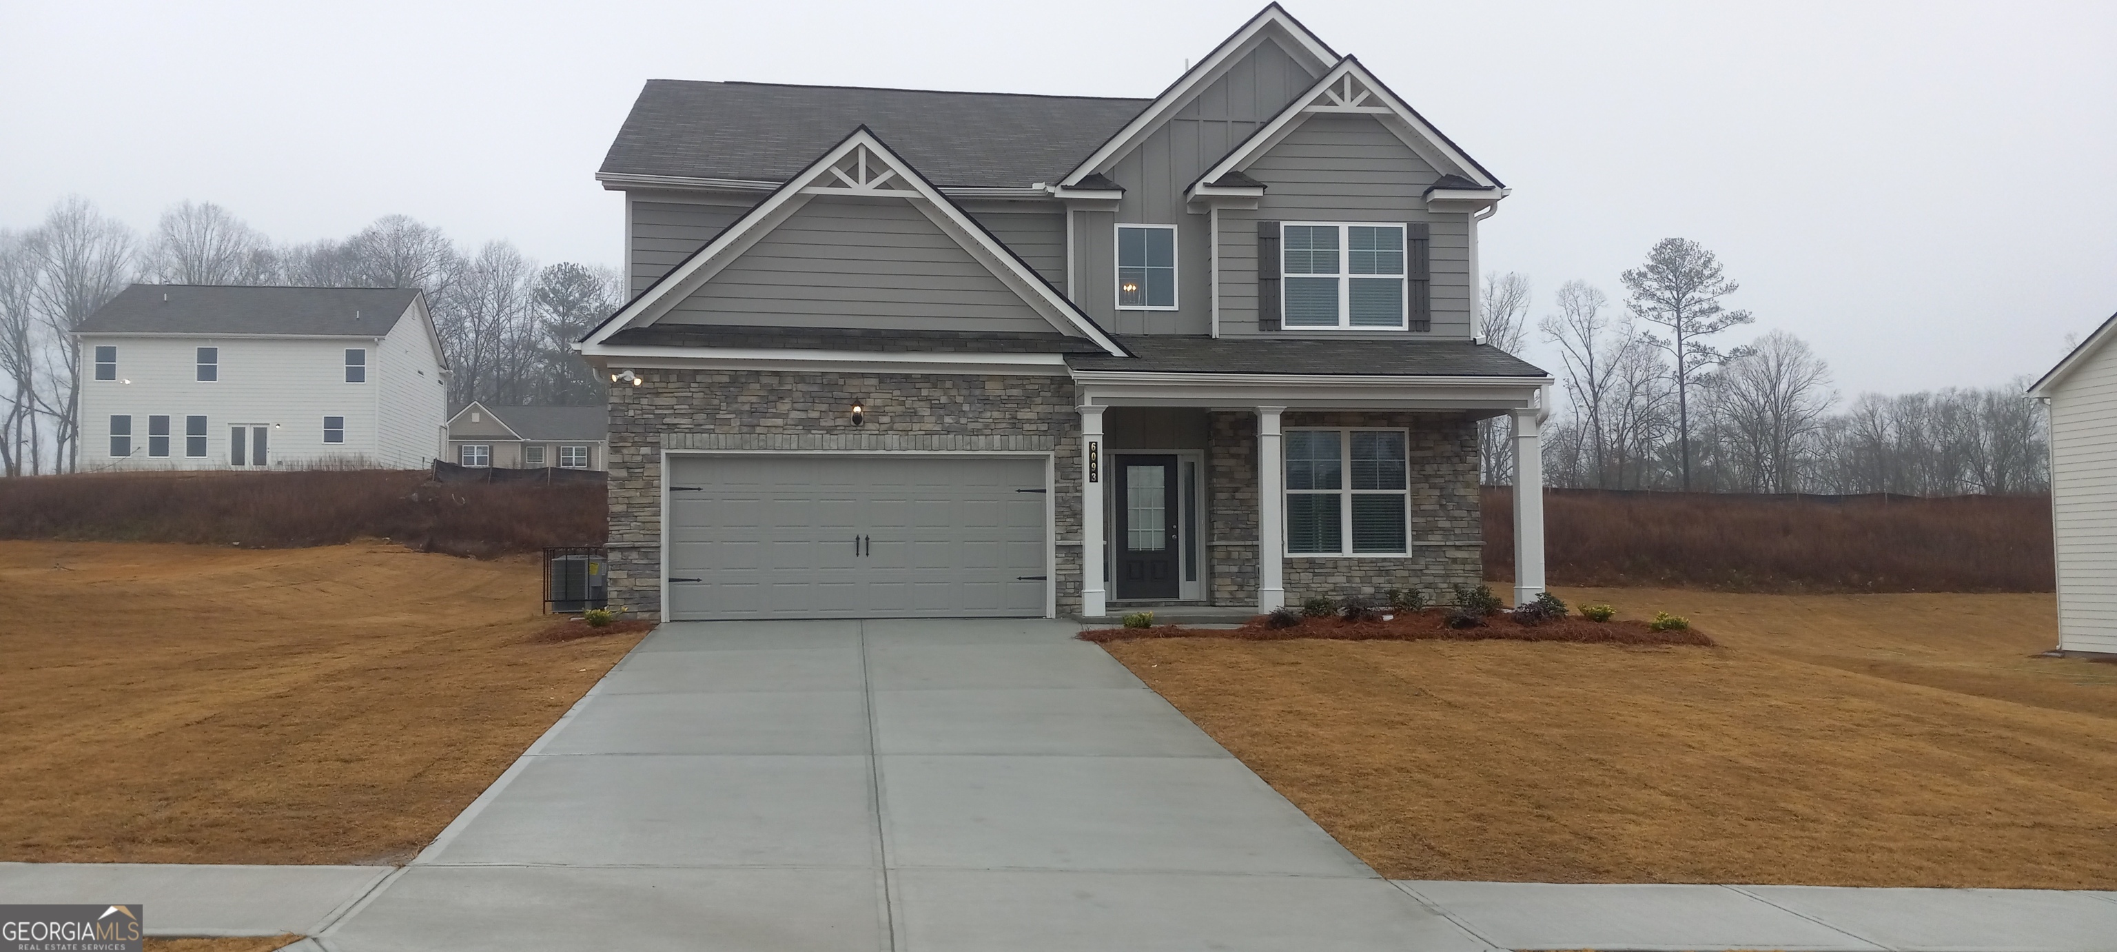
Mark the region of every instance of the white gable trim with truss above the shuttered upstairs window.
<instances>
[{"instance_id":1,"label":"white gable trim with truss above the shuttered upstairs window","mask_svg":"<svg viewBox=\"0 0 2117 952\"><path fill-rule=\"evenodd\" d=\"M1279 116L1198 176L1186 190L1186 199L1192 203L1211 203L1213 199L1262 197L1264 186L1243 171L1285 142L1287 135L1293 135L1310 116L1374 116L1376 123L1389 129L1412 152L1418 152L1427 165L1442 171L1442 180L1427 190L1427 205L1433 212L1482 212L1497 205L1509 193L1484 165L1478 165L1448 135L1442 135L1425 116L1406 106L1397 93L1374 78L1359 59L1344 57Z\"/></svg>"}]
</instances>

